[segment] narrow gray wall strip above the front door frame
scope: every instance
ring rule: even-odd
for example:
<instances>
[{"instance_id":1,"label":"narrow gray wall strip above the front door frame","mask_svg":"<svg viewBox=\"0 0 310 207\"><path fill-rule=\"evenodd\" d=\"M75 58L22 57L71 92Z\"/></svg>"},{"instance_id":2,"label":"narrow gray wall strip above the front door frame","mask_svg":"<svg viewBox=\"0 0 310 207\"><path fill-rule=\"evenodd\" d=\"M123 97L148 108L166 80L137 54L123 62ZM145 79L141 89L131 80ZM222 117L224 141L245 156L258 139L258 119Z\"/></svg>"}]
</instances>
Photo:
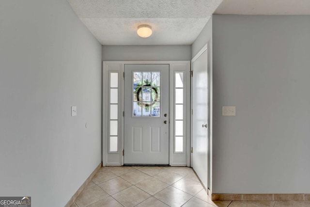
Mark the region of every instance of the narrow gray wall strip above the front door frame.
<instances>
[{"instance_id":1,"label":"narrow gray wall strip above the front door frame","mask_svg":"<svg viewBox=\"0 0 310 207\"><path fill-rule=\"evenodd\" d=\"M103 61L189 61L190 45L102 46Z\"/></svg>"}]
</instances>

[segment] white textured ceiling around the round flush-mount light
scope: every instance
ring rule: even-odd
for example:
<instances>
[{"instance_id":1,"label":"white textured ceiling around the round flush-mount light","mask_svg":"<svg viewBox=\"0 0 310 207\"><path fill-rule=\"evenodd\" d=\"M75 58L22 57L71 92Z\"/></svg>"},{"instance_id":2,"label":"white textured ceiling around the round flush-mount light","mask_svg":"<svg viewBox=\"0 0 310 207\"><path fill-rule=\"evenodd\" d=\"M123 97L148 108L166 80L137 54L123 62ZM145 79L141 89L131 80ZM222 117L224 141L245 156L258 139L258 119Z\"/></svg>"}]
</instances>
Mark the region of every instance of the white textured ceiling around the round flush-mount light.
<instances>
[{"instance_id":1,"label":"white textured ceiling around the round flush-mount light","mask_svg":"<svg viewBox=\"0 0 310 207\"><path fill-rule=\"evenodd\" d=\"M102 45L190 45L222 0L68 0ZM149 38L137 35L152 26Z\"/></svg>"}]
</instances>

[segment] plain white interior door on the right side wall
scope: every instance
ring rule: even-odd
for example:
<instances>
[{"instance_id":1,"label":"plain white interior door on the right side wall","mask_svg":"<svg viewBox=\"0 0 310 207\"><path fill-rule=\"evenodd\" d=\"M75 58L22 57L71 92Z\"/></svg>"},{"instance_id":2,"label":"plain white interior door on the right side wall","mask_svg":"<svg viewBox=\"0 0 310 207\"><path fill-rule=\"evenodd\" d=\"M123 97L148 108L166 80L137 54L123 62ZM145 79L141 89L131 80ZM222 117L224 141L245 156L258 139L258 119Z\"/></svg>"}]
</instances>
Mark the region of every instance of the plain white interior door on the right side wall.
<instances>
[{"instance_id":1,"label":"plain white interior door on the right side wall","mask_svg":"<svg viewBox=\"0 0 310 207\"><path fill-rule=\"evenodd\" d=\"M193 63L192 167L208 188L208 70L207 50Z\"/></svg>"}]
</instances>

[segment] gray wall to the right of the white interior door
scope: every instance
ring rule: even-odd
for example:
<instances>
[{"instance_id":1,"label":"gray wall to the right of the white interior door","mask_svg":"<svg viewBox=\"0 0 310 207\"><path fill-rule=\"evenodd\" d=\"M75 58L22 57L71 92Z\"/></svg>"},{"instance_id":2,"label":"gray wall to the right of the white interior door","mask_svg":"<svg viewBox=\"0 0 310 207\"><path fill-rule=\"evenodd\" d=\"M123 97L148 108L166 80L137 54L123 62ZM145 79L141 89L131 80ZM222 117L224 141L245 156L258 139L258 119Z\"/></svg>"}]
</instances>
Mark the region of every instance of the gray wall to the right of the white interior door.
<instances>
[{"instance_id":1,"label":"gray wall to the right of the white interior door","mask_svg":"<svg viewBox=\"0 0 310 207\"><path fill-rule=\"evenodd\" d=\"M310 193L309 37L310 16L213 16L213 193Z\"/></svg>"}]
</instances>

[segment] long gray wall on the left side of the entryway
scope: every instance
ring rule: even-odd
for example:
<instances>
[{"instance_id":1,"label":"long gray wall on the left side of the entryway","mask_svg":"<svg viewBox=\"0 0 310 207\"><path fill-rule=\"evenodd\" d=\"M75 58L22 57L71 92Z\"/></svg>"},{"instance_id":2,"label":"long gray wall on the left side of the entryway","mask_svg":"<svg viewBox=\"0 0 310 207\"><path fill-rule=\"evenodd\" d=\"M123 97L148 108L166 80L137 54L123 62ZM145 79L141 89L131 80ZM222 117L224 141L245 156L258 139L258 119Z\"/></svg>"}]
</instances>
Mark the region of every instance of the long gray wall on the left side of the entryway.
<instances>
[{"instance_id":1,"label":"long gray wall on the left side of the entryway","mask_svg":"<svg viewBox=\"0 0 310 207\"><path fill-rule=\"evenodd\" d=\"M61 207L98 166L101 74L101 45L66 0L0 1L1 196Z\"/></svg>"}]
</instances>

